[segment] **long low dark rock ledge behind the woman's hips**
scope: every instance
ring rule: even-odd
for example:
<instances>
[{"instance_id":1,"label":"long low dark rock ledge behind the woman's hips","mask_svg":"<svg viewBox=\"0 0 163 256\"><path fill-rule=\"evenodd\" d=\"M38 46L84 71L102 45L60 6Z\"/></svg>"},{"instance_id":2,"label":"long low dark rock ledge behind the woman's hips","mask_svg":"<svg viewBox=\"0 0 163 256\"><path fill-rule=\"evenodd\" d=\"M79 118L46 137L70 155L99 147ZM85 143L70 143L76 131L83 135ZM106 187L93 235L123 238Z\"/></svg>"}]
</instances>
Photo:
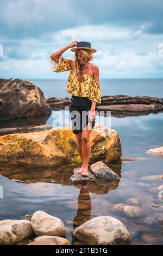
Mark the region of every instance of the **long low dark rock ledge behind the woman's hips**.
<instances>
[{"instance_id":1,"label":"long low dark rock ledge behind the woman's hips","mask_svg":"<svg viewBox=\"0 0 163 256\"><path fill-rule=\"evenodd\" d=\"M64 109L70 105L68 97L46 98L52 109ZM127 115L141 115L148 113L158 113L163 108L163 99L149 96L114 95L102 96L100 105L97 103L97 110L111 110L111 115L115 117L126 117Z\"/></svg>"}]
</instances>

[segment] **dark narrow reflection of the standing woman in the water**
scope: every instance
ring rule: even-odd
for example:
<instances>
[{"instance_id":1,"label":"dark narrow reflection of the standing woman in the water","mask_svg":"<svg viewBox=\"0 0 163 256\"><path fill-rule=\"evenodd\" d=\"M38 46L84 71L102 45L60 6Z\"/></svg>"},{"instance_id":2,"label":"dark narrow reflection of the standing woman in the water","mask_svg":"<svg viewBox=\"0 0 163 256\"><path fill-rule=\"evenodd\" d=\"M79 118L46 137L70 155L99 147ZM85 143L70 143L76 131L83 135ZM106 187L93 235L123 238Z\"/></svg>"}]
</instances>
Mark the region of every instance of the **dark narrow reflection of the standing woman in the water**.
<instances>
[{"instance_id":1,"label":"dark narrow reflection of the standing woman in the water","mask_svg":"<svg viewBox=\"0 0 163 256\"><path fill-rule=\"evenodd\" d=\"M83 184L78 197L77 215L73 219L73 229L91 219L91 198L87 184Z\"/></svg>"}]
</instances>

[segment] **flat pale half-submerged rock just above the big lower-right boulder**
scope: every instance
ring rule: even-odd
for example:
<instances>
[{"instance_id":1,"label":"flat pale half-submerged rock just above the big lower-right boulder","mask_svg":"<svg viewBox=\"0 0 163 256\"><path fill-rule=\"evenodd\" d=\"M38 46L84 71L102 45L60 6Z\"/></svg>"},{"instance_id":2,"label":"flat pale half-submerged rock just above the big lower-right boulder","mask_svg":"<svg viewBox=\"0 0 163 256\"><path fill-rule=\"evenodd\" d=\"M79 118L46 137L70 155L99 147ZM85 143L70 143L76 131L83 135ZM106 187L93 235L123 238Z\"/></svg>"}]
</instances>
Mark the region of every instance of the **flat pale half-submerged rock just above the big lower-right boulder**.
<instances>
[{"instance_id":1,"label":"flat pale half-submerged rock just above the big lower-right boulder","mask_svg":"<svg viewBox=\"0 0 163 256\"><path fill-rule=\"evenodd\" d=\"M149 214L149 210L146 208L140 208L135 206L129 206L125 204L116 204L114 205L113 211L121 212L124 215L130 218L140 218Z\"/></svg>"}]
</instances>

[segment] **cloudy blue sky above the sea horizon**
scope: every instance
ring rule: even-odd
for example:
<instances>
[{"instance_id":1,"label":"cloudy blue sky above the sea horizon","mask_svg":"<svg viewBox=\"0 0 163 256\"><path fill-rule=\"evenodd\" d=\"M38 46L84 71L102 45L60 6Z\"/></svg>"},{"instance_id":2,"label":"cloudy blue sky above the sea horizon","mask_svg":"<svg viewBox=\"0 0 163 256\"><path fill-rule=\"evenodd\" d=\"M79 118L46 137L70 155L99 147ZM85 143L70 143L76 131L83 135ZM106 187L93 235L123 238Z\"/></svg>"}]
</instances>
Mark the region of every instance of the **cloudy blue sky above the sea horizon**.
<instances>
[{"instance_id":1,"label":"cloudy blue sky above the sea horizon","mask_svg":"<svg viewBox=\"0 0 163 256\"><path fill-rule=\"evenodd\" d=\"M77 40L97 50L100 79L163 78L162 17L163 0L1 0L0 77L66 79L49 56Z\"/></svg>"}]
</instances>

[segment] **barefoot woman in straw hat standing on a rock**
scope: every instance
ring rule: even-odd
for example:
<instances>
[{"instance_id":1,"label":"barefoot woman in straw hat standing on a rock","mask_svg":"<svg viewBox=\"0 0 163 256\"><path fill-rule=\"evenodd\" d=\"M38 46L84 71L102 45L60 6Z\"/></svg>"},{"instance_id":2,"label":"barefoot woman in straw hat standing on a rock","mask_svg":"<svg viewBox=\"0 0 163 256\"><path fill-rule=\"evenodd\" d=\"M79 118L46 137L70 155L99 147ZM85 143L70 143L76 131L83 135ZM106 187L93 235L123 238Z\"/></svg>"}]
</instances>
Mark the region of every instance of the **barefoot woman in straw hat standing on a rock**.
<instances>
[{"instance_id":1,"label":"barefoot woman in straw hat standing on a rock","mask_svg":"<svg viewBox=\"0 0 163 256\"><path fill-rule=\"evenodd\" d=\"M74 60L62 57L62 53L69 48L75 52ZM99 69L98 66L90 63L93 59L92 53L95 52L90 42L72 41L70 45L52 53L50 63L54 72L70 70L66 92L72 95L70 104L72 131L76 134L77 147L82 160L82 167L78 173L84 176L88 176L91 155L90 135L95 126L96 103L101 103ZM77 117L77 121L74 116Z\"/></svg>"}]
</instances>

